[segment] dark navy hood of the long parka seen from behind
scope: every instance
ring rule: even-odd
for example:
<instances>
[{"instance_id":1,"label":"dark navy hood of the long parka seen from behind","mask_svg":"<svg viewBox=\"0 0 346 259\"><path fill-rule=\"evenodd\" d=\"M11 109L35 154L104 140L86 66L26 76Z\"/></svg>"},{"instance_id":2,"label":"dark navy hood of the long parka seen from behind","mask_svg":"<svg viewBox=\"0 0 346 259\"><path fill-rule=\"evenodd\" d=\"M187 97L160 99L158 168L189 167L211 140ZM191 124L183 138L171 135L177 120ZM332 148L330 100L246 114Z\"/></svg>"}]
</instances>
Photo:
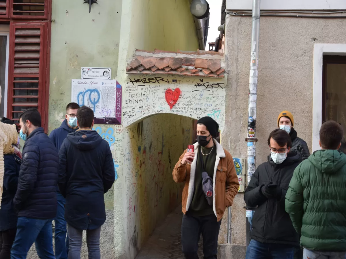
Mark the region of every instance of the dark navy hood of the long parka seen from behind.
<instances>
[{"instance_id":1,"label":"dark navy hood of the long parka seen from behind","mask_svg":"<svg viewBox=\"0 0 346 259\"><path fill-rule=\"evenodd\" d=\"M95 130L78 130L71 132L67 135L67 139L80 150L95 149L103 140Z\"/></svg>"}]
</instances>

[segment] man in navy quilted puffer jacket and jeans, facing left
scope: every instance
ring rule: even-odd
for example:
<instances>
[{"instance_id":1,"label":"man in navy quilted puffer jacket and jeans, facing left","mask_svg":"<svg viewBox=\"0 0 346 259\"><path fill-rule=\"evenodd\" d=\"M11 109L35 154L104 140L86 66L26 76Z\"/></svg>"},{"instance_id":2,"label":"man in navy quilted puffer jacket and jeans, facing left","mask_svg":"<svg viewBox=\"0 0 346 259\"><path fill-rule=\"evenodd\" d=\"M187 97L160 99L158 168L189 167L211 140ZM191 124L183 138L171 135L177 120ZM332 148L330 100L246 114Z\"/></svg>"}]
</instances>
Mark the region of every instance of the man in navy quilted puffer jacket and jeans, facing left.
<instances>
[{"instance_id":1,"label":"man in navy quilted puffer jacket and jeans, facing left","mask_svg":"<svg viewBox=\"0 0 346 259\"><path fill-rule=\"evenodd\" d=\"M34 242L40 258L55 259L52 220L57 207L58 152L41 128L37 109L21 113L19 124L19 135L26 142L13 198L18 221L11 259L25 259Z\"/></svg>"}]
</instances>

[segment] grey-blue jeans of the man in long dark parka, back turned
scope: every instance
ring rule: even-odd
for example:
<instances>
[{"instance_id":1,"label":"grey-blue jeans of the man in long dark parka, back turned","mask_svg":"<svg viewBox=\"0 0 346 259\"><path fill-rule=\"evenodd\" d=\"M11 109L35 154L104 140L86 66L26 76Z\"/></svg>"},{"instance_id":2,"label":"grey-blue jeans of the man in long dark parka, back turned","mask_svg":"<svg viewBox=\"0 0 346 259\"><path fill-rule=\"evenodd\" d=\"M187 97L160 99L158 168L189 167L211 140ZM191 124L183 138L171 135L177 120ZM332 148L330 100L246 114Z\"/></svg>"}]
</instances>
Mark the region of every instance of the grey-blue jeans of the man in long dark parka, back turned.
<instances>
[{"instance_id":1,"label":"grey-blue jeans of the man in long dark parka, back turned","mask_svg":"<svg viewBox=\"0 0 346 259\"><path fill-rule=\"evenodd\" d=\"M86 230L86 246L88 247L89 259L100 259L100 235L101 227ZM81 248L83 241L83 230L75 229L69 225L70 250L69 259L81 259Z\"/></svg>"}]
</instances>

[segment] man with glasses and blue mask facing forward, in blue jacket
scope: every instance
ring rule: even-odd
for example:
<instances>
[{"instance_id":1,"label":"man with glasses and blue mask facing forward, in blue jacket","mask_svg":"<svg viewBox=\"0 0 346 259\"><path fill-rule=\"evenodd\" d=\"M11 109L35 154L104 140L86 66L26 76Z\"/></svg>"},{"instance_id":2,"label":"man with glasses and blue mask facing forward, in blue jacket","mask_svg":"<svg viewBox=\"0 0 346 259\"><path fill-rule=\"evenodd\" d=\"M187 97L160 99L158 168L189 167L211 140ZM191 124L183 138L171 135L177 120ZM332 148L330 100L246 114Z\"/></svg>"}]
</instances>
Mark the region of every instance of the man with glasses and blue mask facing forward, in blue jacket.
<instances>
[{"instance_id":1,"label":"man with glasses and blue mask facing forward, in blue jacket","mask_svg":"<svg viewBox=\"0 0 346 259\"><path fill-rule=\"evenodd\" d=\"M61 123L61 126L51 132L49 138L53 141L53 144L59 152L63 141L67 137L67 134L77 130L77 111L79 105L71 102L66 106L65 120ZM56 186L56 197L58 201L58 207L56 211L55 222L55 258L56 259L67 259L69 253L69 239L66 239L66 220L65 214L65 198L59 192L58 186Z\"/></svg>"}]
</instances>

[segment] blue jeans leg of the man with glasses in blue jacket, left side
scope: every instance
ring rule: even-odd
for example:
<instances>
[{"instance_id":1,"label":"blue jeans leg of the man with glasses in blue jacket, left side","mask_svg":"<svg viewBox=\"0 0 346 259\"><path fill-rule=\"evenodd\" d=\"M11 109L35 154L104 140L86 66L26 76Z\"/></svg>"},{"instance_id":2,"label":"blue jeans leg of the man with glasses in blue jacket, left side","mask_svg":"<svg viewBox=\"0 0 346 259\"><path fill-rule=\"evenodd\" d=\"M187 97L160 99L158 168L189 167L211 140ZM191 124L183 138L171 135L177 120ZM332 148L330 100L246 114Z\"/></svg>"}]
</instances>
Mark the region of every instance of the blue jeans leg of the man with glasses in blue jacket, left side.
<instances>
[{"instance_id":1,"label":"blue jeans leg of the man with glasses in blue jacket, left side","mask_svg":"<svg viewBox=\"0 0 346 259\"><path fill-rule=\"evenodd\" d=\"M65 203L66 199L61 193L56 193L58 207L56 210L55 222L55 257L56 259L67 259L69 253L69 239L66 238Z\"/></svg>"}]
</instances>

